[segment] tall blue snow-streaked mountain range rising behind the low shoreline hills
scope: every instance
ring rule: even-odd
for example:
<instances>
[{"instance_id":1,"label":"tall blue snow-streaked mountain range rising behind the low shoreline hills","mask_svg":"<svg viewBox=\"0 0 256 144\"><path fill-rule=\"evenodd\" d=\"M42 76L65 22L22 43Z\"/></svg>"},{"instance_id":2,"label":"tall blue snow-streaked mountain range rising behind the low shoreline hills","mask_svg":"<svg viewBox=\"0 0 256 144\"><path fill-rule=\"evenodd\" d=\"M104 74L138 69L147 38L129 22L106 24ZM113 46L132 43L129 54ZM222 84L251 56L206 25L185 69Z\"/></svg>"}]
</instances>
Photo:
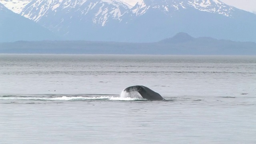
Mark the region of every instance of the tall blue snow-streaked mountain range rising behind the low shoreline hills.
<instances>
[{"instance_id":1,"label":"tall blue snow-streaked mountain range rising behind the low shoreline hills","mask_svg":"<svg viewBox=\"0 0 256 144\"><path fill-rule=\"evenodd\" d=\"M140 0L135 6L122 0L7 1L5 6L18 13L20 19L28 18L49 30L38 32L41 37L34 37L38 40L158 42L178 32L186 32L195 37L256 42L256 15L220 0ZM17 17L14 14L5 16L8 19ZM0 25L0 30L10 35L20 33L7 31L17 28L12 23L15 22ZM30 27L18 28L24 33L36 32ZM15 40L18 38L12 40L10 36L8 39ZM30 37L22 36L19 40L30 40Z\"/></svg>"}]
</instances>

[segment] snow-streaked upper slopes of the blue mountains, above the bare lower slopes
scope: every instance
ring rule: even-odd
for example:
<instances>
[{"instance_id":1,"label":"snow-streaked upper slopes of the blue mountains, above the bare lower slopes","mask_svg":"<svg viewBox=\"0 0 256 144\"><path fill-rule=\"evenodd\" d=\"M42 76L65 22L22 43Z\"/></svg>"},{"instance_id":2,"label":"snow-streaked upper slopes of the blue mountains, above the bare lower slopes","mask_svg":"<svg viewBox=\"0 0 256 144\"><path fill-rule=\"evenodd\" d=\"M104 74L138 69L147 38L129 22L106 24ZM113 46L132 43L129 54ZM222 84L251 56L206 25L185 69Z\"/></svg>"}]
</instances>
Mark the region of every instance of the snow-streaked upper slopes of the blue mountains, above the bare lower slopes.
<instances>
[{"instance_id":1,"label":"snow-streaked upper slopes of the blue mountains, above the bare lower slopes","mask_svg":"<svg viewBox=\"0 0 256 144\"><path fill-rule=\"evenodd\" d=\"M125 16L142 16L150 9L169 14L187 8L224 16L231 16L233 12L231 6L219 0L187 0L186 2L184 0L143 0L133 7L120 0L35 0L23 8L21 15L35 22L58 18L58 21L51 21L50 25L44 24L45 27L53 30L66 19L72 19L74 16L80 18L80 21L91 21L94 24L106 26L112 20L121 22ZM63 16L60 16L61 14Z\"/></svg>"}]
</instances>

